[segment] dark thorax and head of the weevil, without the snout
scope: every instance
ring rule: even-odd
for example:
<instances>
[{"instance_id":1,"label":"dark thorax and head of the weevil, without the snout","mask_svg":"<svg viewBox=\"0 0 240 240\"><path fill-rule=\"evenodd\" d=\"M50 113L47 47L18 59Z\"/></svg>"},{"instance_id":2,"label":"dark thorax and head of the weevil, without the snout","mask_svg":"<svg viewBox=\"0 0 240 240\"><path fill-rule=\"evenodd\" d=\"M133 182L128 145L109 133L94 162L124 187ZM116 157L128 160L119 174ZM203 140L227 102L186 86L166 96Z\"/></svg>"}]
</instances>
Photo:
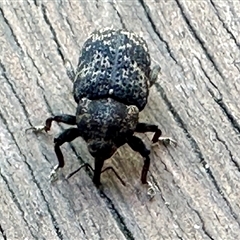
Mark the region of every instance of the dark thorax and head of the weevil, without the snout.
<instances>
[{"instance_id":1,"label":"dark thorax and head of the weevil, without the snout","mask_svg":"<svg viewBox=\"0 0 240 240\"><path fill-rule=\"evenodd\" d=\"M139 110L111 98L80 100L76 121L80 134L95 158L110 158L133 135Z\"/></svg>"}]
</instances>

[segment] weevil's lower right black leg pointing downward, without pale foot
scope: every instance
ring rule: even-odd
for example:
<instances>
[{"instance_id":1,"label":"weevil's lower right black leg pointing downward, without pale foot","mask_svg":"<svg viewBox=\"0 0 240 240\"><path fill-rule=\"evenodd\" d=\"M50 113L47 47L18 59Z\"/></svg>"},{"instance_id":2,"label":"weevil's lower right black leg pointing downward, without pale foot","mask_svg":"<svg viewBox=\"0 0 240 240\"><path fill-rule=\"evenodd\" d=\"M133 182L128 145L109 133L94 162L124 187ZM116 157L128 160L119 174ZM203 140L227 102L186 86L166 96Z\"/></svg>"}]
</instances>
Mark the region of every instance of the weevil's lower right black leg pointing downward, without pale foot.
<instances>
[{"instance_id":1,"label":"weevil's lower right black leg pointing downward, without pale foot","mask_svg":"<svg viewBox=\"0 0 240 240\"><path fill-rule=\"evenodd\" d=\"M147 183L147 173L150 166L150 151L146 148L145 144L139 137L131 136L127 143L134 151L139 152L141 156L145 158L141 175L141 181L145 184Z\"/></svg>"}]
</instances>

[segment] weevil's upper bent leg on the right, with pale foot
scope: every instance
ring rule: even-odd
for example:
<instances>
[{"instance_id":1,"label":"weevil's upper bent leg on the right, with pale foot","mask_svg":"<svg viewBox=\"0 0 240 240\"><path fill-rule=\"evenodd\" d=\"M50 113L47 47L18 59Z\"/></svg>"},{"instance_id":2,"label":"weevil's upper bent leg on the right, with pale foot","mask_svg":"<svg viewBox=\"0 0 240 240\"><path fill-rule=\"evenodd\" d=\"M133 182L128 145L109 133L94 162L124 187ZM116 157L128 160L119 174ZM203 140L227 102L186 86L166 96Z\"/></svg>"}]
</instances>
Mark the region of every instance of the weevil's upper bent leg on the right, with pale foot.
<instances>
[{"instance_id":1,"label":"weevil's upper bent leg on the right, with pale foot","mask_svg":"<svg viewBox=\"0 0 240 240\"><path fill-rule=\"evenodd\" d=\"M177 142L170 137L161 137L162 131L157 125L148 123L138 123L135 132L145 133L145 132L155 132L152 138L152 144L155 145L158 142L163 142L165 144L177 145Z\"/></svg>"}]
</instances>

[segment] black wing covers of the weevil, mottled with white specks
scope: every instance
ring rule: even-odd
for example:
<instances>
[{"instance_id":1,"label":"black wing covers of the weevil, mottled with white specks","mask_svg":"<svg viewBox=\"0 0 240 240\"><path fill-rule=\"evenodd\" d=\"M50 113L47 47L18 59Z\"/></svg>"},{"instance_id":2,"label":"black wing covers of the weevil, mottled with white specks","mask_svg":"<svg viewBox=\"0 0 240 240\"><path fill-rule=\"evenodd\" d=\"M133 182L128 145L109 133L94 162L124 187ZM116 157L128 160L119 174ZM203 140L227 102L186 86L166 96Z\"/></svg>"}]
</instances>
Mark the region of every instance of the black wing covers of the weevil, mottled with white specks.
<instances>
[{"instance_id":1,"label":"black wing covers of the weevil, mottled with white specks","mask_svg":"<svg viewBox=\"0 0 240 240\"><path fill-rule=\"evenodd\" d=\"M111 97L143 110L150 56L146 42L125 30L95 31L85 42L74 82L74 98Z\"/></svg>"}]
</instances>

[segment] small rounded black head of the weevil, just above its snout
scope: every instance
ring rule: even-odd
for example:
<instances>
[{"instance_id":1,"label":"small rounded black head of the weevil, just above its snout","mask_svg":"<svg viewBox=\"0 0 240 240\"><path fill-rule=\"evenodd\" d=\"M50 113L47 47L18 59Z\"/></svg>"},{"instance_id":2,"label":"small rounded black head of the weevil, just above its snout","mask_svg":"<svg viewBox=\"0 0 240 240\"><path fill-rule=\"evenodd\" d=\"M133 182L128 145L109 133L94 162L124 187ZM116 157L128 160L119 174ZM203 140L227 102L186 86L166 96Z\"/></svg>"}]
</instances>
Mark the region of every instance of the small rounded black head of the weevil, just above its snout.
<instances>
[{"instance_id":1,"label":"small rounded black head of the weevil, just above its snout","mask_svg":"<svg viewBox=\"0 0 240 240\"><path fill-rule=\"evenodd\" d=\"M104 140L93 140L88 144L88 150L94 158L108 159L117 150L117 147Z\"/></svg>"}]
</instances>

